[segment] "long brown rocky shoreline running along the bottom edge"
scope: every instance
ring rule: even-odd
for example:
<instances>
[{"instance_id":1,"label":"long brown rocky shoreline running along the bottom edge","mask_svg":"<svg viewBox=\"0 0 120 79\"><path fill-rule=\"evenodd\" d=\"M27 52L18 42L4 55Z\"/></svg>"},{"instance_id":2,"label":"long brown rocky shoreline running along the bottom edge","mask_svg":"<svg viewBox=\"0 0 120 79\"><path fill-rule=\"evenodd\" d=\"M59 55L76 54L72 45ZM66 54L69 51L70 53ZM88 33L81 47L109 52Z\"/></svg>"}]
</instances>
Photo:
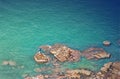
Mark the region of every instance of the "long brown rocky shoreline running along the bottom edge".
<instances>
[{"instance_id":1,"label":"long brown rocky shoreline running along the bottom edge","mask_svg":"<svg viewBox=\"0 0 120 79\"><path fill-rule=\"evenodd\" d=\"M120 79L120 62L104 64L99 72L86 69L66 70L50 75L27 76L25 79Z\"/></svg>"}]
</instances>

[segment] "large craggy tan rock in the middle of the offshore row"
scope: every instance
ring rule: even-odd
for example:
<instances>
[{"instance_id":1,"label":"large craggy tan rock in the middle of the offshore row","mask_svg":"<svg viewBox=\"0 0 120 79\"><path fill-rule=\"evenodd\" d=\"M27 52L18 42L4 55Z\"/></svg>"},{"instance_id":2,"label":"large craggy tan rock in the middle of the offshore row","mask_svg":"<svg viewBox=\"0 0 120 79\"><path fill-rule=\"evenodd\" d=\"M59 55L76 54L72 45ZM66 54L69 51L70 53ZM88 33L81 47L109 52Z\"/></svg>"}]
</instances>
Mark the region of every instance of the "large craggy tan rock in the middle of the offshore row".
<instances>
[{"instance_id":1,"label":"large craggy tan rock in the middle of the offshore row","mask_svg":"<svg viewBox=\"0 0 120 79\"><path fill-rule=\"evenodd\" d=\"M53 54L59 61L78 61L80 52L73 50L65 45L55 44L52 46L50 53Z\"/></svg>"}]
</instances>

